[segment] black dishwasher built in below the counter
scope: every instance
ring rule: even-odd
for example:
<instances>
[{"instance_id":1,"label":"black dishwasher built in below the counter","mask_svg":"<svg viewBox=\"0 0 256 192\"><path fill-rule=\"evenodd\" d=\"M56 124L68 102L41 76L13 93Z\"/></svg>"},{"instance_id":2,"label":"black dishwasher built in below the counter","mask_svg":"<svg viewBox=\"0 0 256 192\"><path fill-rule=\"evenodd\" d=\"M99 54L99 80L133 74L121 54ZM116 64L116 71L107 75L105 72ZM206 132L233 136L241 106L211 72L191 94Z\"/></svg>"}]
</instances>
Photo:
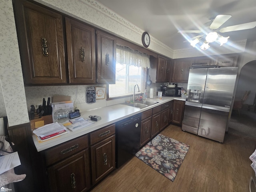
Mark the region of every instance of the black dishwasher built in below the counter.
<instances>
[{"instance_id":1,"label":"black dishwasher built in below the counter","mask_svg":"<svg viewBox=\"0 0 256 192\"><path fill-rule=\"evenodd\" d=\"M116 167L119 168L140 150L141 114L116 123Z\"/></svg>"}]
</instances>

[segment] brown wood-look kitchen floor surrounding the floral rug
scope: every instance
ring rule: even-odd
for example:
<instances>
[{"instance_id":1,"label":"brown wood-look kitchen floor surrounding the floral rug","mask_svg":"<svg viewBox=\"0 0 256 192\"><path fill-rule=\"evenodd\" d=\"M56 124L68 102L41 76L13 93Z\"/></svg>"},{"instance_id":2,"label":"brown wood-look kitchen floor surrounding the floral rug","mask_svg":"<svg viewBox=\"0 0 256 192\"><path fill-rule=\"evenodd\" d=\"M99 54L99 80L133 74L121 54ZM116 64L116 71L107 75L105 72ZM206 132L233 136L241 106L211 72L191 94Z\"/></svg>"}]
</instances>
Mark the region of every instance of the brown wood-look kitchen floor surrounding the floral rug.
<instances>
[{"instance_id":1,"label":"brown wood-look kitchen floor surrounding the floral rug","mask_svg":"<svg viewBox=\"0 0 256 192\"><path fill-rule=\"evenodd\" d=\"M190 145L174 182L134 157L92 192L249 192L255 140L226 134L222 144L174 125L161 134Z\"/></svg>"}]
</instances>

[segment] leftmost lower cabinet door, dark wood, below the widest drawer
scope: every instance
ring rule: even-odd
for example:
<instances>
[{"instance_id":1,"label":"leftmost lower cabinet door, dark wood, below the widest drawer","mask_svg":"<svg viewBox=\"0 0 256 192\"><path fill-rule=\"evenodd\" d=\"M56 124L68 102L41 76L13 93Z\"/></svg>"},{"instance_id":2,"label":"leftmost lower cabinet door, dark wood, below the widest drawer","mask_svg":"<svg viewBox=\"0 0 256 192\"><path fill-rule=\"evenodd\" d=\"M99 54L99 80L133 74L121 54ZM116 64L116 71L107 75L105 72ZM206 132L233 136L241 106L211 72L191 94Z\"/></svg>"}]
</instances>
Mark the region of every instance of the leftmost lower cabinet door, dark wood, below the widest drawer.
<instances>
[{"instance_id":1,"label":"leftmost lower cabinet door, dark wood, below the widest drawer","mask_svg":"<svg viewBox=\"0 0 256 192\"><path fill-rule=\"evenodd\" d=\"M80 192L90 188L89 149L48 168L52 192Z\"/></svg>"}]
</instances>

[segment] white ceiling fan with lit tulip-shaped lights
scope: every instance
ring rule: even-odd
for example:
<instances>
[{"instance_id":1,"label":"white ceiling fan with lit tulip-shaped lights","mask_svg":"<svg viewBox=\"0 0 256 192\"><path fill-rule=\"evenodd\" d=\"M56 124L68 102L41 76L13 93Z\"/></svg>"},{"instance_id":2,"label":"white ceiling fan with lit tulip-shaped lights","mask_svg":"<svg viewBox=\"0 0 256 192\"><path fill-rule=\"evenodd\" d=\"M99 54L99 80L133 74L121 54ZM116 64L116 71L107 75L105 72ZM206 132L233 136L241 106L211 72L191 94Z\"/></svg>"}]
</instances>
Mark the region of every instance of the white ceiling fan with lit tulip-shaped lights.
<instances>
[{"instance_id":1,"label":"white ceiling fan with lit tulip-shaped lights","mask_svg":"<svg viewBox=\"0 0 256 192\"><path fill-rule=\"evenodd\" d=\"M195 36L185 42L190 42L190 45L195 47L197 43L200 42L200 40L205 36L205 41L200 46L201 49L206 50L210 48L209 43L217 41L220 43L220 46L222 44L228 42L228 37L223 37L217 32L225 33L225 32L231 32L231 31L238 31L238 30L245 30L245 29L252 29L256 26L256 21L244 23L244 24L238 24L228 27L220 28L228 19L231 18L231 15L217 15L214 19L211 19L212 22L210 25L206 26L202 30L179 30L178 33L203 33L202 35Z\"/></svg>"}]
</instances>

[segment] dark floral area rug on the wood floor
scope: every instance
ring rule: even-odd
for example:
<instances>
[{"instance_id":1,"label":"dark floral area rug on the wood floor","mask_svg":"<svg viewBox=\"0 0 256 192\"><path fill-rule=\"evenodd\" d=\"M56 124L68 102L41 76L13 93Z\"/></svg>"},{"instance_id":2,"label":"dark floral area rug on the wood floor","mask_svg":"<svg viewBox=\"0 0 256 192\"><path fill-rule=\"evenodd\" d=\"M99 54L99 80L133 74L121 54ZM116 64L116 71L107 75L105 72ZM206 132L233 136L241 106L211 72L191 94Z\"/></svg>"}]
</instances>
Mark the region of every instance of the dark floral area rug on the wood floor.
<instances>
[{"instance_id":1,"label":"dark floral area rug on the wood floor","mask_svg":"<svg viewBox=\"0 0 256 192\"><path fill-rule=\"evenodd\" d=\"M174 181L189 145L158 134L135 155L160 174Z\"/></svg>"}]
</instances>

